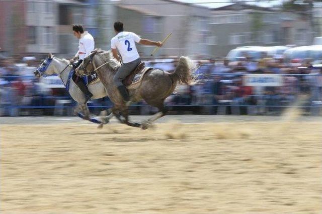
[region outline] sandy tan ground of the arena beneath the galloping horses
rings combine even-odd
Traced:
[[[0,212],[322,213],[320,120],[195,118],[2,124]]]

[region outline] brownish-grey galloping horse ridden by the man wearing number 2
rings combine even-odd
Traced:
[[[111,51],[94,50],[83,63],[76,69],[76,75],[89,75],[95,71],[105,86],[110,100],[114,103],[111,112],[122,122],[130,126],[148,128],[153,121],[163,117],[167,113],[164,104],[165,99],[175,90],[177,83],[191,84],[195,80],[195,66],[188,57],[180,57],[178,65],[173,73],[159,69],[144,68],[137,81],[127,86],[132,102],[144,100],[147,104],[157,107],[158,112],[148,120],[133,123],[128,118],[128,106],[113,84],[113,76],[121,66],[112,55]],[[130,75],[131,76],[131,75]],[[131,81],[130,81],[131,82]],[[121,119],[120,115],[124,117]]]

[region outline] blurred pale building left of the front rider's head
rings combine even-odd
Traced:
[[[83,23],[83,7],[75,0],[28,0],[26,52],[76,53],[78,41],[72,35],[71,25]]]

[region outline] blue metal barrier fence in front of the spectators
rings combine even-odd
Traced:
[[[13,81],[17,76],[2,78]],[[322,113],[321,74],[211,74],[202,75],[196,85],[177,89],[166,100],[172,114],[279,115],[291,107],[300,108],[307,115]],[[10,102],[3,99],[6,89],[2,90],[0,116],[72,115],[76,104],[70,96],[39,95],[31,95],[35,102],[28,104]],[[89,108],[96,113],[112,105],[108,98],[89,102]],[[132,114],[156,112],[144,102],[133,103],[129,110]]]

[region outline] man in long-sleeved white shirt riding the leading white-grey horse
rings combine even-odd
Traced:
[[[73,62],[72,67],[75,70],[79,65],[81,65],[84,58],[90,55],[91,52],[94,50],[95,42],[92,35],[87,31],[84,32],[83,26],[80,24],[74,24],[72,27],[72,32],[73,35],[77,39],[79,39],[78,51],[75,57],[72,60],[70,60],[71,62]],[[77,58],[79,58],[78,61],[74,62],[74,60]],[[83,83],[82,78],[76,76],[75,72],[72,76],[72,80],[76,83],[79,89],[82,90],[87,100],[89,100],[93,96],[93,94],[89,91],[87,86]]]

